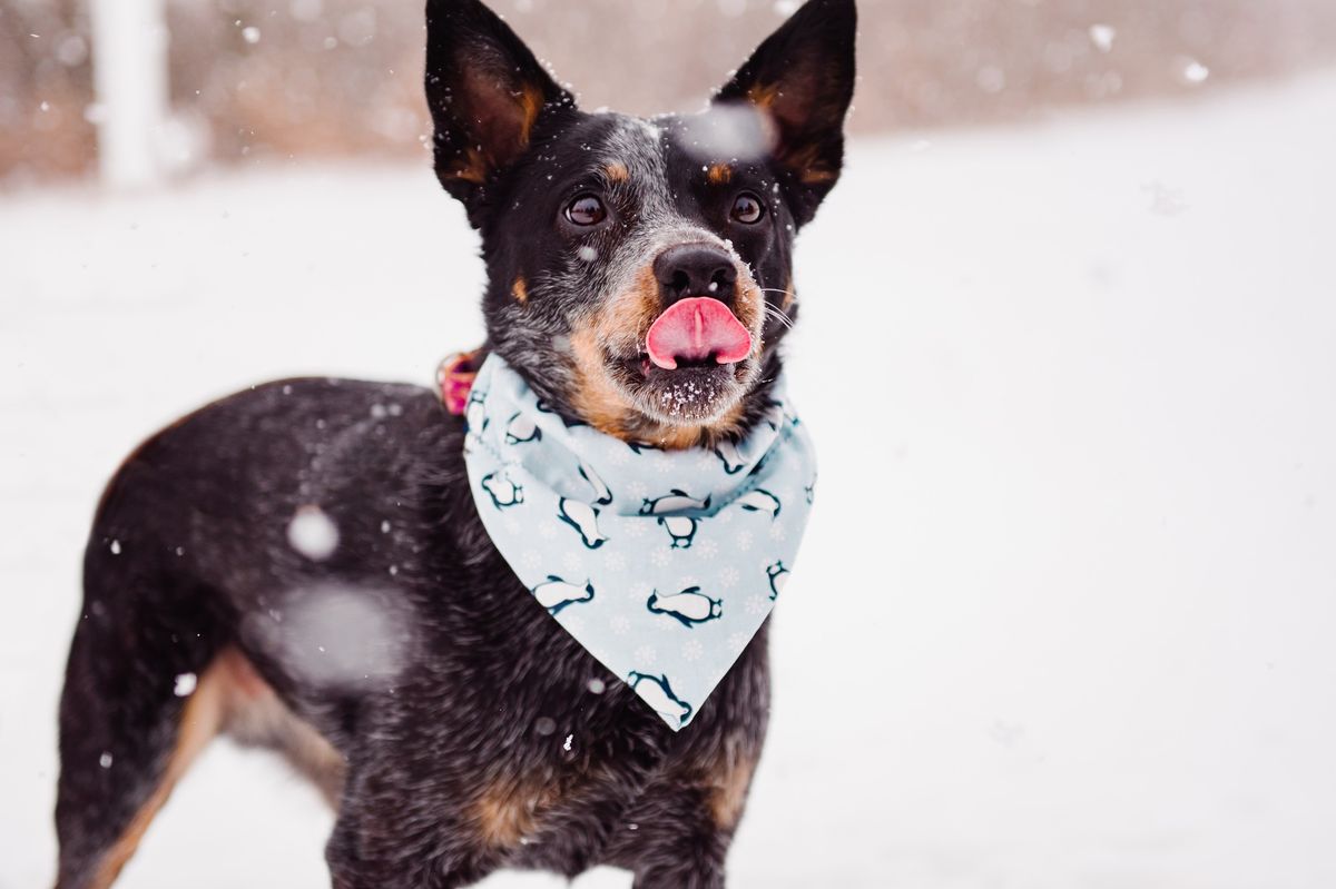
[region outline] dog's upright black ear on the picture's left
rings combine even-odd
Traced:
[[[426,100],[436,175],[472,210],[488,183],[529,147],[540,119],[574,100],[478,0],[428,0]]]

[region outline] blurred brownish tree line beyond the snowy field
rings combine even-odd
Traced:
[[[167,0],[178,166],[413,156],[421,0]],[[689,111],[796,0],[494,0],[587,108]],[[1043,116],[1336,60],[1333,0],[862,0],[855,132]],[[0,0],[0,184],[88,174],[80,0]]]

